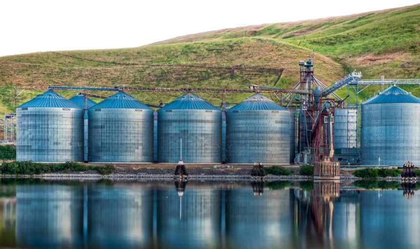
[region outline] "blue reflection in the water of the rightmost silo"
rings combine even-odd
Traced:
[[[420,196],[360,192],[361,248],[420,248]]]

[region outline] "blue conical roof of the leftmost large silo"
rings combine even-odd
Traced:
[[[22,107],[58,107],[81,109],[77,104],[71,102],[70,100],[52,90],[48,90],[45,93],[40,94],[28,102],[18,106],[18,108]]]

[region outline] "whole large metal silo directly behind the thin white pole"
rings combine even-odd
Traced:
[[[202,98],[187,93],[158,110],[158,161],[220,163],[222,112]]]

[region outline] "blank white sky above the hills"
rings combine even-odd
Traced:
[[[1,0],[0,56],[138,47],[245,25],[402,7],[420,0]]]

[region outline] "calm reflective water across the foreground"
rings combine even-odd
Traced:
[[[419,194],[396,182],[0,184],[2,248],[420,248]]]

